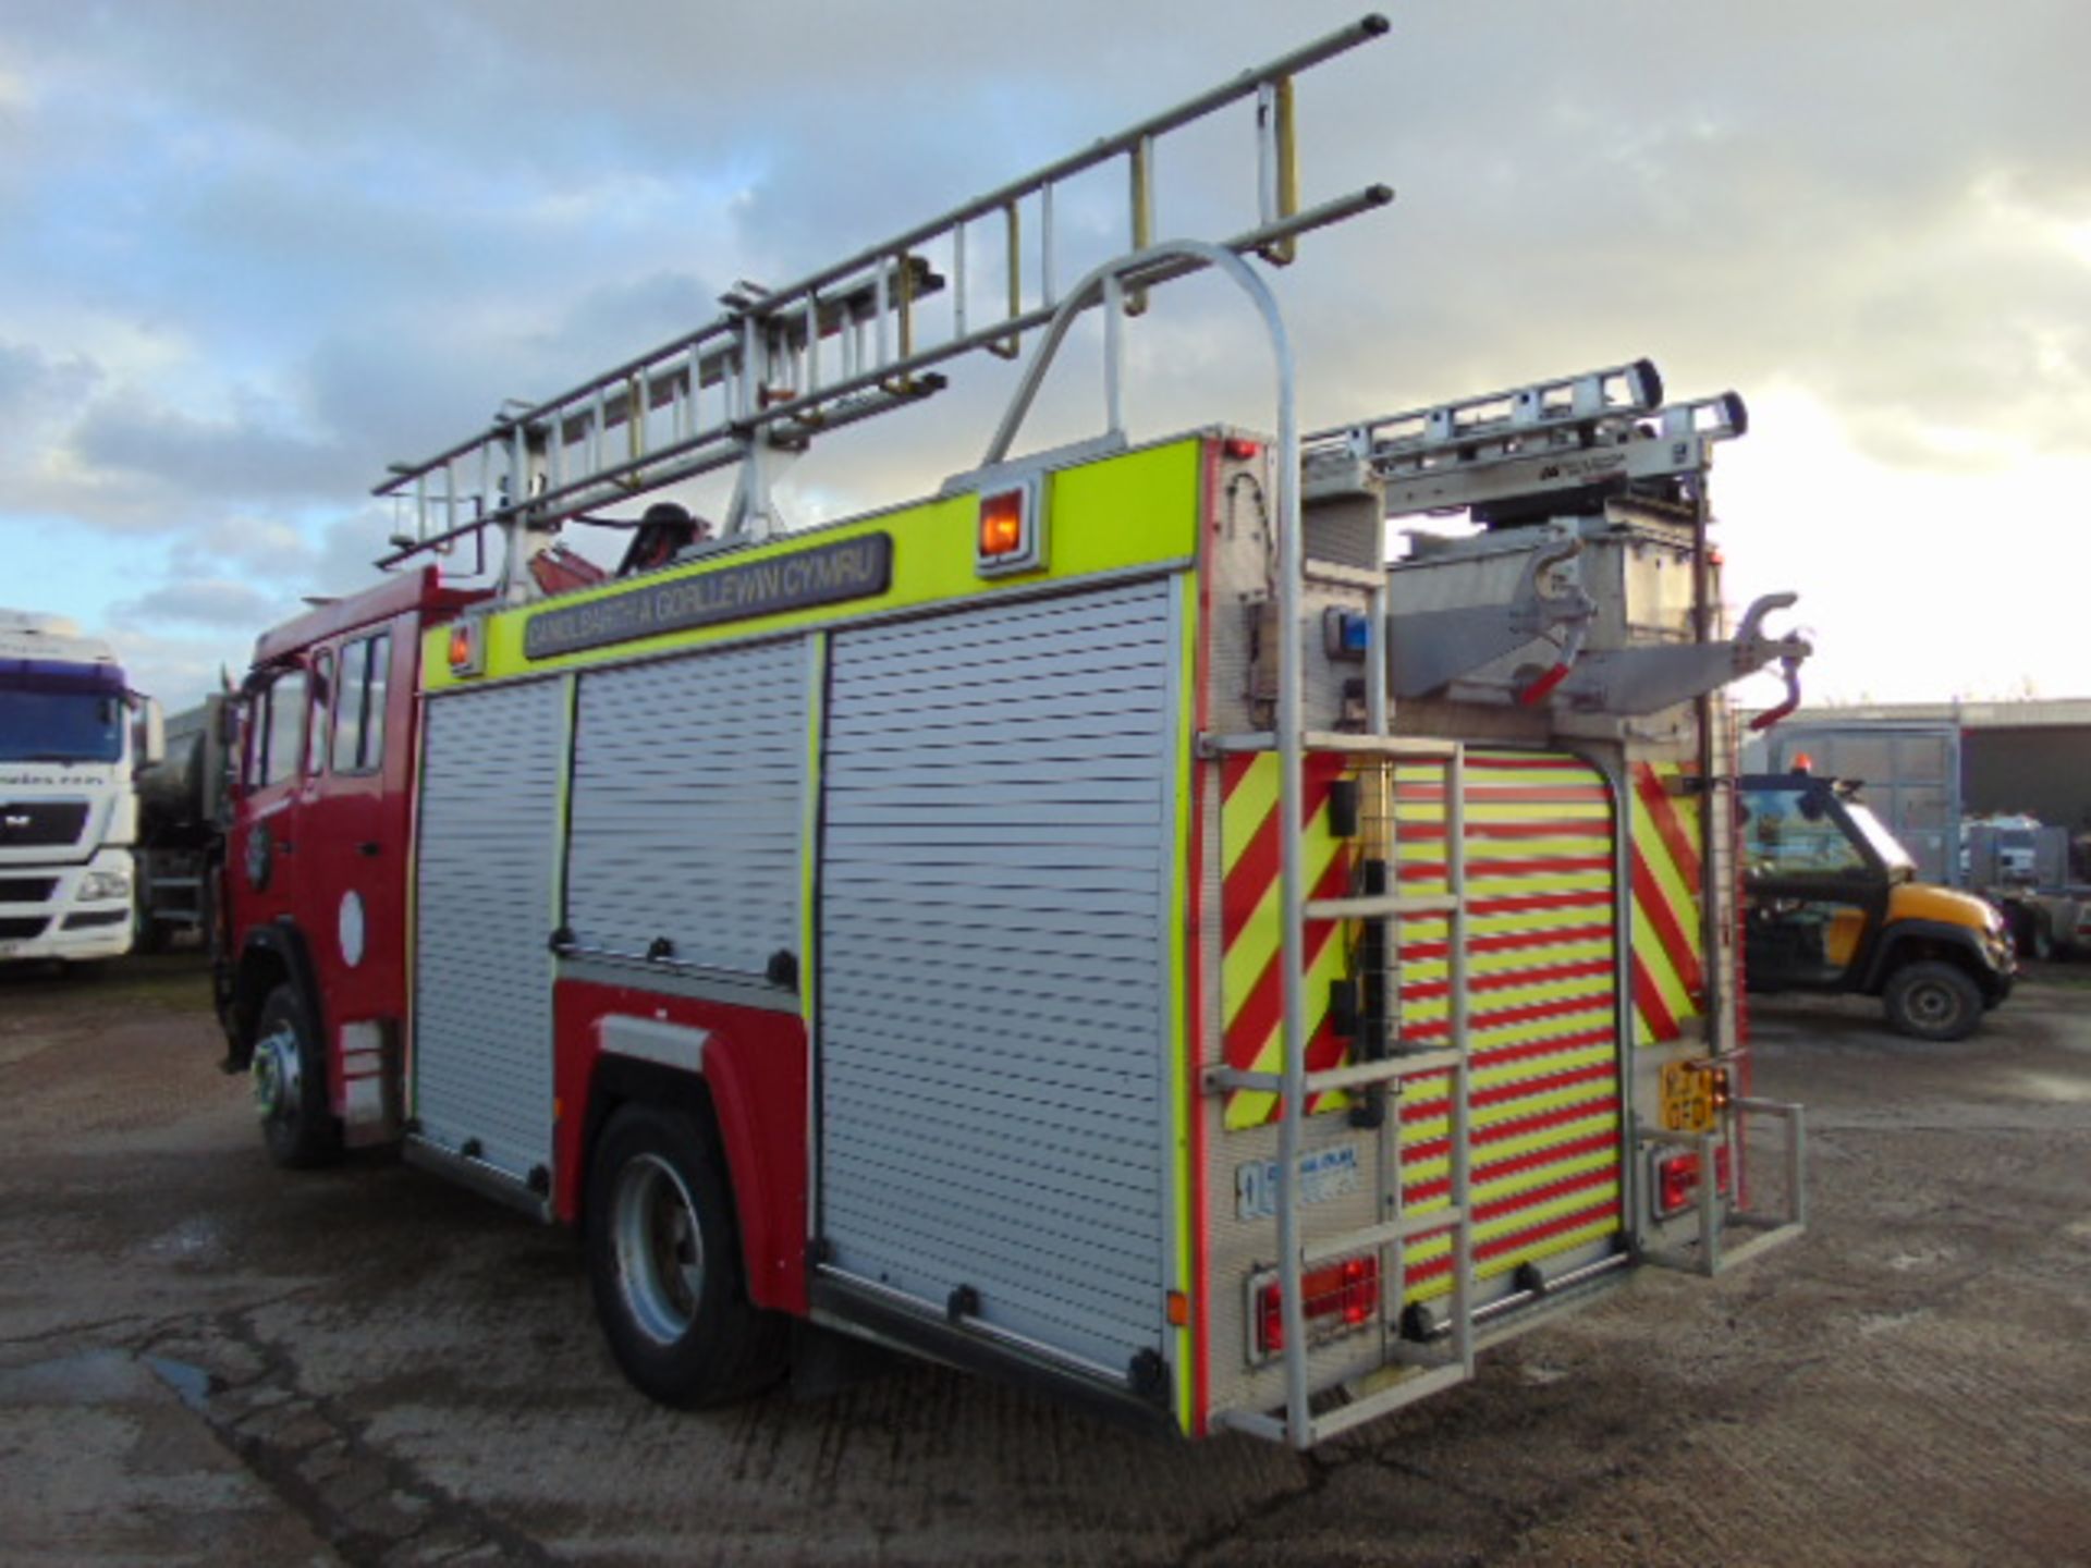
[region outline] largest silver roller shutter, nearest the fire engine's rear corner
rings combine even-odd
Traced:
[[[834,638],[822,1236],[1121,1369],[1163,1336],[1167,583]]]

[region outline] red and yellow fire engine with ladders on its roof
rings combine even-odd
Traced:
[[[280,1162],[399,1144],[579,1227],[665,1403],[843,1336],[1303,1449],[1800,1231],[1721,688],[1807,644],[1790,596],[1723,636],[1742,401],[1633,362],[1301,431],[1257,263],[1386,205],[1301,205],[1294,157],[1299,77],[1384,29],[393,470],[393,575],[240,692],[220,999]],[[1255,215],[1158,240],[1156,146],[1244,102]],[[1110,167],[1125,245],[1060,286],[1054,192]],[[1129,322],[1192,272],[1257,312],[1273,431],[1133,441]],[[1089,312],[1104,429],[1027,452]],[[820,435],[1027,341],[974,468],[782,527]],[[715,537],[560,541],[728,468]]]

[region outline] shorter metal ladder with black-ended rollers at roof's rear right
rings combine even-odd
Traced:
[[[1750,429],[1738,393],[1662,401],[1648,360],[1462,397],[1301,437],[1309,495],[1384,491],[1386,516],[1700,472]]]

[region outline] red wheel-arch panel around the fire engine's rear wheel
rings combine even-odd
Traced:
[[[671,997],[629,985],[560,981],[552,991],[554,1093],[552,1202],[569,1225],[581,1219],[583,1135],[602,1024],[648,1018],[703,1029],[705,1087],[732,1171],[749,1296],[757,1307],[805,1313],[807,1238],[807,1041],[805,1020],[765,1008]]]

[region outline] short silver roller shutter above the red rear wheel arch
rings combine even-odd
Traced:
[[[763,974],[797,953],[805,644],[590,671],[567,924],[583,949]]]

